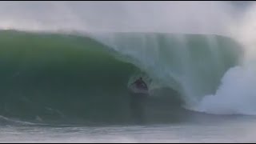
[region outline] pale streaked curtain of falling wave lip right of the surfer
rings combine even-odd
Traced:
[[[216,35],[116,33],[94,38],[146,71],[154,78],[152,87],[177,90],[189,109],[212,94],[222,75],[242,56],[238,43]]]

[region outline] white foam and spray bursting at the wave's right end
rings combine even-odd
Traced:
[[[256,114],[255,5],[240,20],[234,38],[242,43],[244,58],[222,78],[215,94],[206,95],[196,110],[211,114]]]

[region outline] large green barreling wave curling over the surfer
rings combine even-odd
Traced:
[[[162,104],[190,107],[214,93],[241,57],[237,42],[217,35],[2,30],[1,113],[125,121],[127,85],[138,76],[146,78],[150,98],[175,97]]]

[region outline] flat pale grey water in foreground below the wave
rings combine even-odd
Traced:
[[[256,142],[255,118],[210,119],[144,126],[2,126],[0,142]]]

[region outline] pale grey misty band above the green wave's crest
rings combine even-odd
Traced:
[[[225,34],[228,2],[1,2],[0,26],[22,30],[83,30]]]

